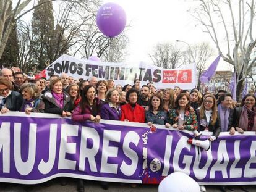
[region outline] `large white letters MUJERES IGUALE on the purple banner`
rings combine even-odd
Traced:
[[[28,146],[28,156],[27,161],[23,161],[22,154],[22,146],[21,146],[21,123],[14,123],[14,164],[20,175],[28,175],[32,172],[33,168],[36,166],[40,173],[48,174],[54,167],[54,162],[56,161],[56,146],[57,146],[57,124],[50,124],[50,133],[49,138],[49,154],[48,161],[41,161],[35,165],[36,159],[36,130],[37,125],[35,123],[30,123],[29,127],[29,146]],[[10,144],[11,144],[11,135],[10,135],[10,123],[2,122],[0,128],[0,163],[2,167],[3,173],[10,173]],[[103,146],[100,149],[100,135],[95,128],[83,127],[81,130],[81,138],[80,140],[80,149],[79,156],[77,160],[67,159],[66,154],[75,154],[77,143],[70,143],[68,138],[70,136],[78,136],[79,134],[79,126],[78,125],[69,125],[62,124],[61,125],[61,140],[59,141],[59,156],[58,156],[58,169],[69,169],[75,170],[77,161],[79,161],[79,170],[85,171],[85,159],[88,159],[88,164],[90,167],[90,172],[100,172],[100,173],[113,173],[117,174],[117,170],[120,169],[121,172],[126,176],[131,176],[135,173],[138,163],[139,156],[142,154],[137,154],[139,151],[134,151],[134,149],[130,148],[130,144],[134,144],[138,146],[140,136],[135,131],[129,131],[124,136],[124,140],[121,143],[121,131],[116,130],[104,130],[103,132]],[[93,146],[91,148],[87,148],[87,140],[93,140]],[[108,163],[108,157],[118,157],[118,147],[109,146],[109,141],[119,142],[120,147],[122,148],[124,155],[130,159],[130,163],[127,164],[124,160],[119,161],[120,164],[110,164]],[[186,144],[187,137],[182,136],[179,141],[173,143],[173,136],[166,135],[166,146],[164,157],[164,167],[162,175],[166,176],[168,173],[173,171],[182,171],[190,174],[190,171],[194,173],[195,177],[198,179],[203,179],[207,177],[207,173],[210,172],[210,178],[215,177],[216,172],[221,172],[223,178],[252,178],[255,177],[255,168],[252,168],[251,165],[256,163],[255,151],[256,151],[256,141],[252,141],[248,146],[250,148],[250,159],[246,162],[244,167],[237,168],[237,162],[240,157],[240,141],[234,141],[234,151],[233,154],[235,156],[235,160],[230,162],[228,150],[226,147],[226,141],[221,140],[218,146],[218,151],[216,151],[216,159],[217,161],[213,164],[213,151],[211,149],[207,151],[207,162],[202,167],[198,161],[197,150],[191,150],[190,154],[182,155],[182,149],[186,148],[190,150],[192,146]],[[38,143],[37,143],[38,144]],[[173,154],[171,154],[171,149],[174,148]],[[140,151],[141,152],[141,151]],[[37,151],[38,153],[38,151]],[[100,169],[97,167],[97,162],[95,160],[95,156],[101,153],[101,162]],[[103,155],[104,154],[104,155]],[[200,155],[199,155],[200,156]],[[185,166],[179,167],[179,161],[182,159],[182,164]],[[193,160],[194,159],[194,160]],[[216,160],[215,159],[215,160]],[[2,161],[2,162],[1,162]],[[172,166],[170,166],[172,165]],[[24,169],[25,167],[25,169]],[[171,168],[170,168],[171,167]],[[210,169],[210,170],[209,170]],[[229,170],[229,173],[228,173]]]

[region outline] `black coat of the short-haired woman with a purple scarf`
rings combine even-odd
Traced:
[[[71,112],[74,108],[74,104],[72,100],[70,100],[69,94],[63,91],[63,95],[64,107],[60,108],[59,105],[56,103],[51,91],[46,91],[46,93],[42,96],[43,102],[45,103],[45,113],[62,115],[63,111]]]

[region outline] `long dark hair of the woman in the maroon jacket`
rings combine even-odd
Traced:
[[[81,94],[81,101],[79,103],[80,109],[82,109],[82,112],[85,112],[85,108],[86,106],[90,106],[89,101],[87,99],[87,92],[90,88],[94,88],[95,87],[93,85],[85,85],[85,87],[82,90],[82,94]],[[96,92],[95,92],[96,93]],[[93,106],[92,106],[93,111],[96,110],[97,112],[100,110],[99,105],[96,102],[96,99],[93,99]]]

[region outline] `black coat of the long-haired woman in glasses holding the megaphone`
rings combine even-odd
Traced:
[[[197,109],[196,114],[197,114],[197,122],[198,122],[198,131],[204,131],[207,126],[203,126],[200,123],[201,119],[200,119],[199,109]],[[205,122],[207,122],[207,118],[206,118],[205,115],[203,115],[203,119],[205,119]],[[221,129],[219,116],[217,117],[216,122],[214,123],[214,125],[211,125],[211,122],[212,121],[211,121],[211,118],[210,118],[210,122],[209,122],[209,125],[208,125],[208,130],[210,132],[213,132],[213,136],[216,136],[216,138],[218,138],[218,136],[220,134],[220,129]]]

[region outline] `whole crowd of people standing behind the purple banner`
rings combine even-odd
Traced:
[[[45,112],[71,117],[74,122],[99,123],[106,119],[160,124],[195,135],[200,131],[213,132],[210,141],[215,141],[220,132],[234,135],[256,131],[255,101],[252,93],[236,103],[224,90],[216,94],[200,93],[196,88],[181,90],[178,86],[158,90],[153,82],[141,86],[139,79],[134,80],[134,85],[122,86],[96,77],[75,80],[66,73],[34,80],[9,68],[0,71],[1,114]],[[108,189],[108,183],[101,185]],[[77,190],[83,191],[82,180]]]

